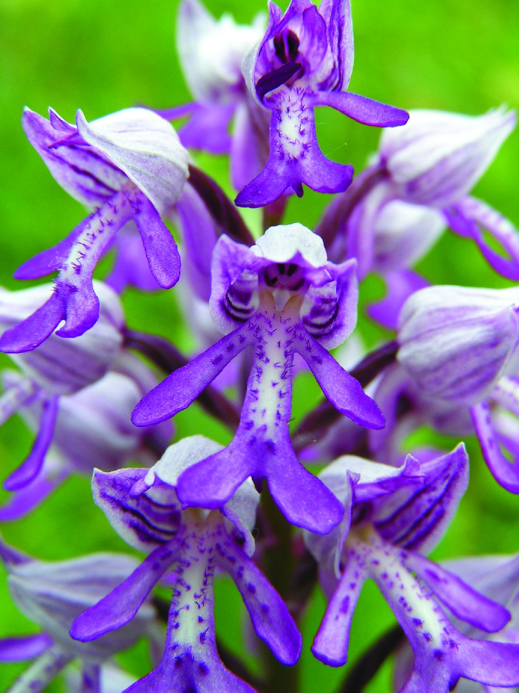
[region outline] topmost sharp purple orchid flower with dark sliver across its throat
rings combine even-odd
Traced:
[[[292,0],[282,11],[268,6],[268,26],[244,59],[254,98],[272,112],[270,158],[236,198],[242,207],[262,207],[287,188],[302,195],[302,184],[338,193],[352,182],[352,166],[330,161],[319,149],[313,109],[331,106],[365,125],[392,128],[408,121],[399,108],[346,91],[353,69],[349,0]]]

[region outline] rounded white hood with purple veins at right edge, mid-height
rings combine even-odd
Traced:
[[[511,365],[519,290],[434,286],[399,316],[397,358],[424,394],[473,405]]]

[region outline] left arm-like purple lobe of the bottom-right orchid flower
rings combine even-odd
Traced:
[[[364,580],[365,575],[350,552],[311,647],[313,655],[330,667],[340,667],[347,662],[349,631]]]

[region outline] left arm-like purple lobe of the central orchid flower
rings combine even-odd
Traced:
[[[188,407],[226,365],[251,344],[247,331],[246,325],[237,328],[154,387],[131,415],[135,426],[152,426]]]

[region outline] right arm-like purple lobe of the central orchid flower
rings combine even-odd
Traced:
[[[294,349],[307,362],[322,392],[341,414],[359,426],[383,428],[384,417],[376,403],[313,337],[308,335],[305,342],[294,341]]]

